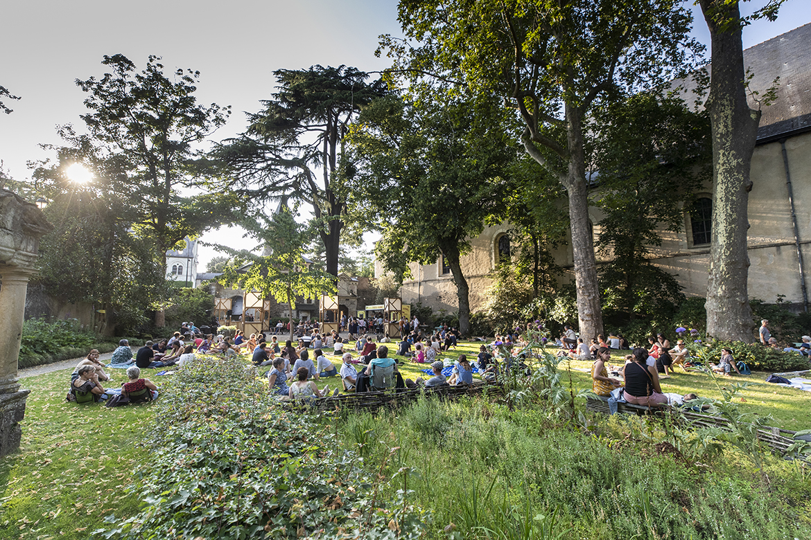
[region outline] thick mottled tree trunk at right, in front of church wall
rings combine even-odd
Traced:
[[[713,150],[713,210],[710,276],[707,283],[707,334],[723,340],[752,341],[749,306],[749,168],[760,111],[749,108],[744,89],[744,53],[738,3],[721,6],[701,0],[712,36],[710,112]],[[712,14],[714,13],[715,16]],[[719,28],[721,20],[731,20]]]

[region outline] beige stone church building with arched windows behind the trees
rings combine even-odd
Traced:
[[[811,24],[806,24],[744,51],[744,62],[753,79],[749,87],[762,95],[779,77],[777,100],[762,109],[749,193],[749,295],[773,303],[778,296],[802,310],[809,303],[811,263]],[[754,102],[750,104],[754,107]],[[598,188],[599,189],[599,188]],[[696,193],[697,206],[684,210],[679,233],[664,232],[653,261],[676,276],[687,296],[706,296],[710,266],[710,232],[713,193],[705,185]],[[676,204],[681,204],[677,202]],[[594,235],[599,234],[601,211],[589,211]],[[510,251],[508,223],[485,227],[472,239],[471,253],[461,266],[470,284],[470,308],[485,307],[487,287],[499,258]],[[556,262],[573,279],[571,247],[563,246]],[[598,264],[599,264],[598,259]],[[410,266],[412,278],[401,288],[405,304],[421,302],[433,309],[457,308],[456,286],[450,270],[440,260]],[[375,274],[382,273],[380,263]]]

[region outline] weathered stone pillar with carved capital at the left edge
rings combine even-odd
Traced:
[[[19,388],[17,360],[25,293],[36,273],[39,239],[51,228],[36,206],[0,189],[0,456],[14,452],[22,436],[29,391]]]

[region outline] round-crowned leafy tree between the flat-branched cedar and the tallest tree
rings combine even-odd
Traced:
[[[427,96],[423,96],[425,98]],[[397,283],[408,264],[444,263],[457,287],[459,330],[470,333],[470,287],[461,256],[504,196],[516,150],[486,120],[483,101],[375,101],[350,140],[358,156],[358,206],[383,231],[375,253]],[[441,266],[440,266],[441,267]]]

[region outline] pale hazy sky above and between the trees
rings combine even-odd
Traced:
[[[701,11],[692,9],[694,36],[709,54],[709,32]],[[0,15],[0,85],[22,97],[3,100],[14,113],[0,114],[0,160],[16,180],[30,177],[27,161],[53,157],[38,145],[59,143],[55,126],[80,127],[84,92],[75,79],[100,78],[105,54],[122,53],[139,70],[149,54],[163,57],[167,72],[200,70],[198,101],[232,106],[230,120],[213,135],[221,140],[244,130],[243,112],[259,110],[271,96],[273,70],[315,64],[382,70],[388,62],[375,57],[378,36],[401,33],[396,0],[27,0],[5,2]],[[787,0],[775,23],[744,28],[744,48],[809,22],[811,2]],[[238,249],[254,244],[230,227],[201,240]],[[217,254],[201,247],[199,269]]]

